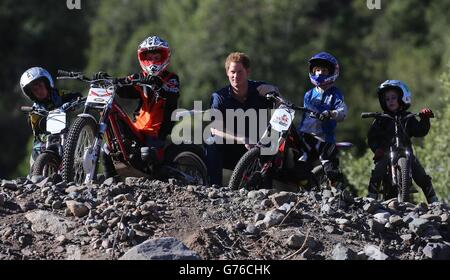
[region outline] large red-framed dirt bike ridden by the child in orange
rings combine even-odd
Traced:
[[[116,168],[125,167],[154,178],[176,178],[185,184],[207,185],[203,151],[196,145],[162,147],[162,162],[144,162],[141,147],[145,147],[142,133],[135,127],[115,100],[116,90],[122,86],[142,86],[146,94],[161,98],[152,85],[139,79],[106,78],[91,80],[82,73],[59,71],[58,79],[75,79],[90,84],[84,112],[70,127],[64,147],[62,177],[65,181],[92,183],[96,179],[103,139]],[[147,90],[148,89],[148,90]]]

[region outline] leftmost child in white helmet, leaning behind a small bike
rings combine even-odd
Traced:
[[[82,96],[78,92],[63,92],[55,88],[52,76],[42,67],[32,67],[25,71],[20,78],[20,88],[25,97],[34,102],[33,107],[47,111],[59,108]],[[30,168],[44,147],[41,135],[45,133],[46,123],[43,120],[42,116],[29,114],[29,123],[34,135]]]

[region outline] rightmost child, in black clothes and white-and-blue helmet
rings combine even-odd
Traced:
[[[387,80],[378,87],[377,94],[384,113],[401,116],[410,114],[406,110],[411,105],[411,92],[403,82]],[[433,112],[430,109],[422,109],[419,113],[420,121],[416,118],[408,118],[404,121],[403,126],[406,133],[411,137],[424,137],[430,130],[430,118],[433,116]],[[373,160],[375,163],[369,181],[369,197],[377,198],[377,187],[381,183],[389,164],[387,153],[393,137],[394,123],[389,119],[376,119],[369,128],[367,140],[370,149],[374,152]],[[407,144],[411,145],[411,143]],[[414,155],[412,155],[411,164],[413,179],[422,188],[428,203],[438,201],[431,177],[428,176]]]

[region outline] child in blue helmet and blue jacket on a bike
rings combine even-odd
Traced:
[[[320,52],[309,60],[309,77],[315,86],[304,96],[304,107],[317,112],[314,118],[308,113],[298,126],[304,151],[300,161],[308,161],[315,153],[319,156],[327,178],[332,185],[342,182],[336,151],[335,129],[337,122],[347,116],[347,105],[341,91],[334,85],[339,76],[337,59],[327,52]]]

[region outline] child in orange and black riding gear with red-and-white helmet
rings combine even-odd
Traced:
[[[117,95],[122,98],[139,99],[134,125],[144,135],[147,144],[147,147],[141,148],[142,160],[161,161],[162,147],[174,125],[171,115],[178,106],[180,80],[175,73],[167,70],[170,63],[170,48],[167,41],[158,36],[150,36],[139,45],[137,55],[142,72],[128,78],[141,78],[142,83],[153,86],[154,92],[147,87],[124,86],[117,90]],[[99,72],[93,79],[107,76],[108,74]],[[102,158],[105,177],[117,175],[106,145],[102,151]]]

